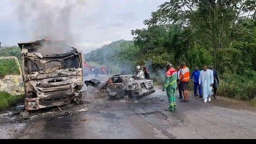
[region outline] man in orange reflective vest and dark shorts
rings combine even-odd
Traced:
[[[182,102],[188,102],[188,82],[190,81],[190,70],[185,63],[181,63],[181,73],[180,80],[178,82],[181,85],[181,90],[183,91],[184,100]]]

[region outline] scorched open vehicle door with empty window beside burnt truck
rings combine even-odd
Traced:
[[[22,71],[16,57],[0,57],[0,91],[13,96],[25,94]]]

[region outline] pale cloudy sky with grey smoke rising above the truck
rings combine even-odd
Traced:
[[[130,31],[146,28],[166,0],[1,0],[2,46],[43,38],[68,40],[83,53],[120,39],[132,40]]]

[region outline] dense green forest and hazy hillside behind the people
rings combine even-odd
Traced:
[[[171,0],[144,21],[147,28],[132,30],[133,43],[117,41],[85,58],[132,66],[150,62],[154,72],[167,63],[185,62],[191,71],[214,65],[219,95],[256,100],[255,9],[255,0]]]

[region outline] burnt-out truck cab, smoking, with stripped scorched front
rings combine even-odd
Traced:
[[[25,109],[60,106],[82,97],[82,56],[64,41],[18,43],[25,84]],[[68,51],[61,53],[61,50]],[[60,52],[56,54],[56,52]],[[54,53],[53,53],[54,52]]]

